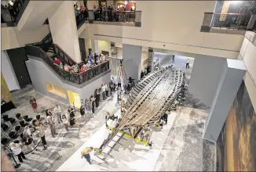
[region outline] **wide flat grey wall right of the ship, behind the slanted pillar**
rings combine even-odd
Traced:
[[[196,56],[188,91],[210,107],[220,82],[226,59],[214,56]]]

